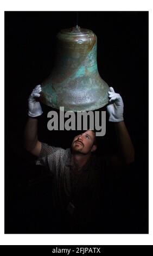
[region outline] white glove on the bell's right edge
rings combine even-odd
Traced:
[[[110,122],[121,122],[123,121],[123,100],[120,94],[115,93],[114,89],[110,87],[109,93],[109,102],[107,105],[107,111],[109,112],[109,121]]]

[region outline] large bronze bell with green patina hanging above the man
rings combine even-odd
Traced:
[[[50,76],[41,83],[40,100],[65,111],[90,111],[105,106],[109,86],[97,68],[97,36],[80,27],[62,29]]]

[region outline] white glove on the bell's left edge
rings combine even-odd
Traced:
[[[40,102],[36,101],[36,98],[40,97],[40,92],[41,92],[41,85],[39,84],[39,86],[36,86],[33,89],[33,92],[29,96],[29,99],[28,99],[29,117],[38,117],[43,113]]]

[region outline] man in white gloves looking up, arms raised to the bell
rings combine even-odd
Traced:
[[[36,157],[36,164],[45,166],[53,176],[52,196],[56,209],[57,223],[66,223],[84,231],[95,223],[100,215],[101,205],[106,196],[107,182],[115,167],[129,164],[134,160],[133,145],[123,119],[123,100],[110,87],[107,106],[109,121],[114,123],[118,139],[119,153],[97,158],[94,131],[87,130],[73,139],[71,149],[51,147],[37,137],[37,117],[42,114],[39,101],[41,86],[36,86],[28,99],[29,119],[25,127],[25,147]],[[102,207],[103,208],[103,207]],[[89,229],[88,229],[89,230]]]

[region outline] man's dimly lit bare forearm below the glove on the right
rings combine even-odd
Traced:
[[[129,132],[126,129],[124,121],[114,123],[116,136],[120,154],[122,155],[125,163],[131,163],[135,160],[135,149],[131,142]]]

